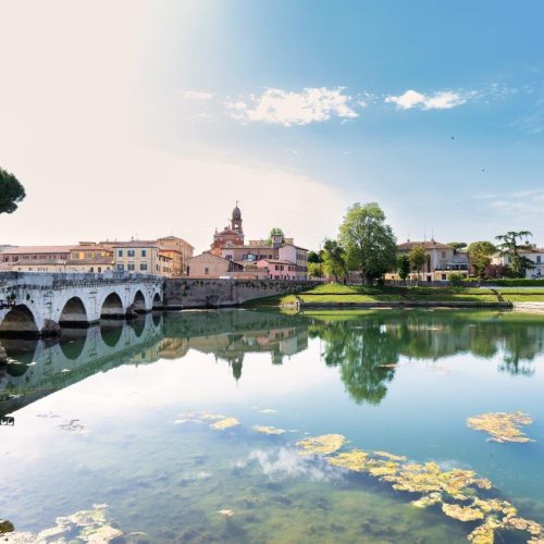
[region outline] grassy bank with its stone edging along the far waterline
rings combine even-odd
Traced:
[[[403,287],[322,284],[296,295],[274,296],[247,302],[263,308],[388,308],[448,307],[514,309],[528,304],[544,311],[544,287]]]

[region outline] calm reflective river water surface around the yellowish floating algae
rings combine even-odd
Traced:
[[[119,543],[467,542],[478,523],[299,455],[297,441],[326,433],[345,450],[472,469],[544,523],[544,319],[201,311],[2,343],[0,415],[14,424],[0,426],[0,519],[21,542],[92,505],[108,505],[119,532],[103,540]],[[190,410],[239,424],[213,430]],[[517,410],[535,442],[490,443],[466,424]]]

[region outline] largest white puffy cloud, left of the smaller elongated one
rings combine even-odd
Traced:
[[[342,87],[309,87],[302,92],[267,89],[261,96],[251,95],[245,101],[227,102],[233,119],[243,122],[262,122],[284,126],[308,125],[329,121],[332,116],[355,119],[351,97]]]

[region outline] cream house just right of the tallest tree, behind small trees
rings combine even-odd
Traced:
[[[416,246],[422,246],[425,250],[426,262],[420,273],[411,270],[408,280],[423,280],[425,282],[447,281],[452,273],[469,276],[469,257],[467,251],[456,251],[452,246],[442,244],[435,239],[429,242],[405,242],[397,246],[399,254],[408,255]],[[398,272],[385,274],[385,280],[400,280]]]

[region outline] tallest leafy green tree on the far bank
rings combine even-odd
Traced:
[[[395,269],[396,238],[376,202],[355,203],[347,210],[338,243],[346,250],[349,270],[360,270],[367,282]]]

